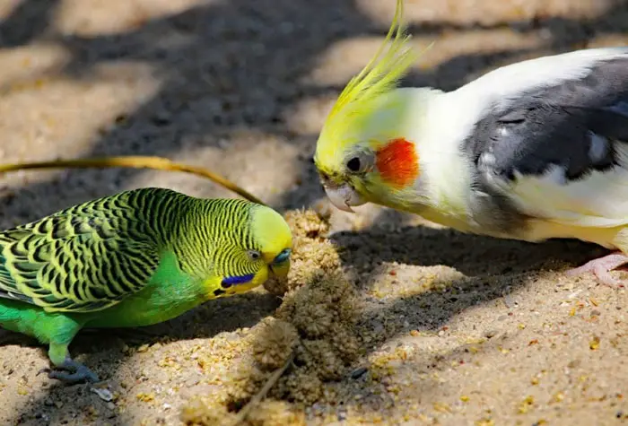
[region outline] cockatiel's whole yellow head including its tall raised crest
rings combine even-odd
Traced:
[[[411,103],[397,89],[416,59],[402,16],[403,0],[397,0],[386,40],[342,91],[318,136],[314,162],[327,196],[341,210],[369,201],[386,204],[390,194],[408,189],[418,177],[414,143],[406,137]]]

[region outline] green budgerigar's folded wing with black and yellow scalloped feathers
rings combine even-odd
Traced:
[[[0,297],[92,312],[141,290],[160,257],[135,213],[114,196],[0,232]]]

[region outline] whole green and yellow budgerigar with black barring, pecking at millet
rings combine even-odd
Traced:
[[[50,378],[98,381],[68,345],[83,327],[150,326],[290,269],[275,210],[141,188],[0,231],[0,326],[48,343]]]

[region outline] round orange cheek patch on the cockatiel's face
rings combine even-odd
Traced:
[[[414,143],[406,139],[393,139],[376,152],[375,165],[379,175],[388,184],[406,187],[419,175],[419,159]]]

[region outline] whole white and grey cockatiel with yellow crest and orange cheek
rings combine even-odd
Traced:
[[[568,274],[628,263],[628,48],[506,65],[456,91],[398,88],[416,55],[400,24],[342,91],[315,164],[337,208],[367,202],[498,238],[615,250]],[[392,39],[381,58],[382,49]]]

